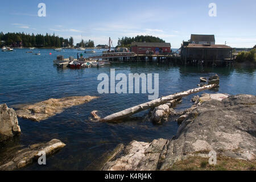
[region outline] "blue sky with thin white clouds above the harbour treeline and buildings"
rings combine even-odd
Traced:
[[[45,3],[46,16],[38,16]],[[216,16],[209,16],[210,3]],[[214,34],[216,44],[251,48],[256,44],[255,0],[26,0],[1,1],[0,31],[73,36],[75,43],[113,46],[118,38],[152,35],[179,48],[191,34]]]

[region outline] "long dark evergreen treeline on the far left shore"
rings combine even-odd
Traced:
[[[73,47],[74,39],[71,37],[69,39],[60,38],[55,34],[25,34],[22,33],[10,33],[3,34],[0,33],[1,46],[11,46],[11,47]]]

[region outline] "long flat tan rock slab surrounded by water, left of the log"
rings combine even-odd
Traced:
[[[50,98],[49,100],[20,107],[16,110],[18,117],[32,121],[45,120],[53,115],[62,113],[69,107],[85,104],[93,100],[94,96],[72,96],[64,98]]]

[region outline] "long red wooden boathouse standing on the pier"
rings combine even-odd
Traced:
[[[152,51],[154,54],[170,53],[171,43],[156,43],[156,42],[132,42],[131,52],[139,55],[144,55]]]

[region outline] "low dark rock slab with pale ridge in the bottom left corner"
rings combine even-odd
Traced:
[[[36,162],[42,154],[52,155],[65,146],[65,143],[58,139],[52,139],[47,143],[32,144],[30,147],[17,151],[13,158],[6,160],[0,166],[0,171],[11,171],[26,167],[28,164]]]

